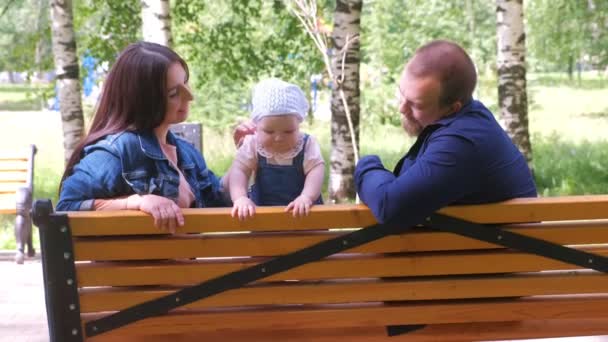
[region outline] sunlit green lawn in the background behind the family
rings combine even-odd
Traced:
[[[584,74],[580,84],[576,78],[570,81],[562,74],[533,74],[529,78],[530,131],[539,192],[546,196],[608,193],[608,82],[589,73]],[[495,86],[496,80],[482,79],[477,93],[494,111]],[[0,86],[0,103],[10,108],[10,103],[19,103],[27,93],[24,87]],[[36,144],[34,198],[51,198],[56,203],[64,165],[59,114],[1,110],[0,106],[2,147]],[[386,110],[391,111],[398,118],[396,109]],[[378,154],[392,169],[413,140],[400,127],[369,124],[365,115],[362,120],[360,154]],[[223,175],[234,156],[230,128],[214,129],[204,122],[203,126],[205,159],[216,174]],[[330,123],[317,120],[303,124],[302,130],[320,141],[328,161]],[[13,220],[11,216],[0,216],[0,248],[14,247]]]

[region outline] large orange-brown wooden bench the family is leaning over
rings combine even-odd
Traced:
[[[185,226],[170,236],[140,212],[52,213],[37,201],[51,341],[608,334],[608,276],[585,266],[608,270],[608,196],[448,207],[429,218],[431,228],[382,238],[393,228],[375,225],[362,205],[315,206],[300,219],[258,208],[244,222],[229,211],[186,209]],[[447,232],[450,217],[485,224],[484,238],[496,243]],[[361,244],[370,233],[376,240]],[[541,252],[557,258],[572,251],[580,265],[500,245],[517,234],[550,242]],[[216,294],[193,299],[203,293]]]

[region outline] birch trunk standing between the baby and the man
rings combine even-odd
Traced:
[[[359,61],[362,0],[337,0],[332,32],[332,69],[337,80],[333,82],[331,93],[331,156],[329,173],[329,198],[334,203],[355,198],[353,173],[355,170],[355,150],[359,148]],[[348,49],[342,51],[348,39]],[[344,66],[343,54],[346,53]],[[355,133],[353,146],[340,90],[344,92]]]

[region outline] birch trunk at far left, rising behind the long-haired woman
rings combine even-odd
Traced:
[[[51,22],[64,157],[67,162],[84,132],[71,0],[51,1]]]

